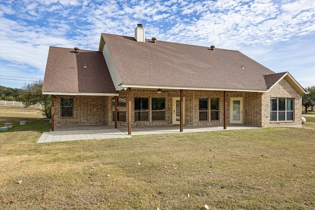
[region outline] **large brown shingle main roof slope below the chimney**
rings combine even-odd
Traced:
[[[102,33],[124,85],[268,90],[275,72],[239,51]],[[243,68],[242,68],[243,66]]]

